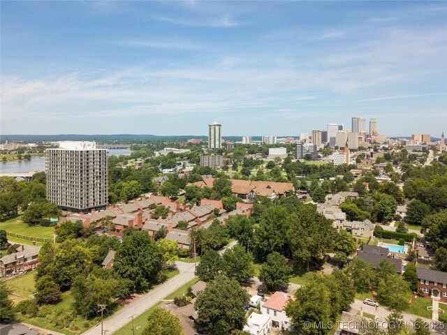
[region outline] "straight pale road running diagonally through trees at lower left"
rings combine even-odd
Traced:
[[[147,309],[154,306],[161,299],[167,295],[170,295],[170,293],[182,287],[195,277],[193,263],[176,262],[175,264],[177,265],[177,269],[180,271],[177,276],[173,276],[173,278],[170,278],[165,283],[157,286],[153,290],[150,290],[138,300],[131,302],[131,304],[117,311],[117,313],[104,319],[104,333],[112,334],[113,332],[116,332],[119,328],[131,321],[132,315],[135,318],[136,316],[147,311]],[[87,332],[83,333],[83,335],[101,335],[101,323],[90,328]]]

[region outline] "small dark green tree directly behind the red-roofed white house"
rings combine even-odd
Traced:
[[[280,253],[273,252],[267,256],[267,262],[261,266],[259,280],[268,290],[288,287],[288,276],[291,268],[287,266],[286,258]]]

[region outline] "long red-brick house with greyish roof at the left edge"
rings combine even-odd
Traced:
[[[0,258],[1,276],[18,274],[20,271],[29,271],[36,268],[40,264],[37,256],[41,248],[41,246],[22,244],[17,248],[16,253]]]

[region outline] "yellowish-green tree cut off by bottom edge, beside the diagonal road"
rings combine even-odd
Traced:
[[[182,325],[177,315],[158,307],[147,317],[142,335],[183,335]]]

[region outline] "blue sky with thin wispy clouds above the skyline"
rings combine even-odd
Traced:
[[[2,134],[447,132],[441,1],[1,1]]]

